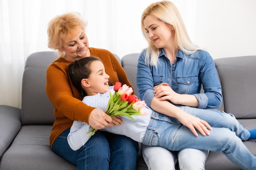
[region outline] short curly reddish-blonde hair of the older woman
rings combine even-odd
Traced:
[[[63,55],[63,37],[72,37],[78,28],[85,29],[86,22],[83,21],[81,14],[78,12],[65,13],[57,15],[48,24],[48,47],[58,50]]]

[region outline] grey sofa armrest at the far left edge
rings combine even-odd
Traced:
[[[21,128],[21,110],[0,105],[0,159]]]

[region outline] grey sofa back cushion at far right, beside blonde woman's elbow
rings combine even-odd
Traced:
[[[237,119],[256,118],[256,56],[220,58],[214,62],[225,112]]]

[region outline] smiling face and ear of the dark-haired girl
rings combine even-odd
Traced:
[[[90,64],[91,73],[86,80],[87,95],[97,95],[97,93],[106,93],[109,91],[108,79],[109,75],[105,72],[105,67],[101,61],[94,61]]]

